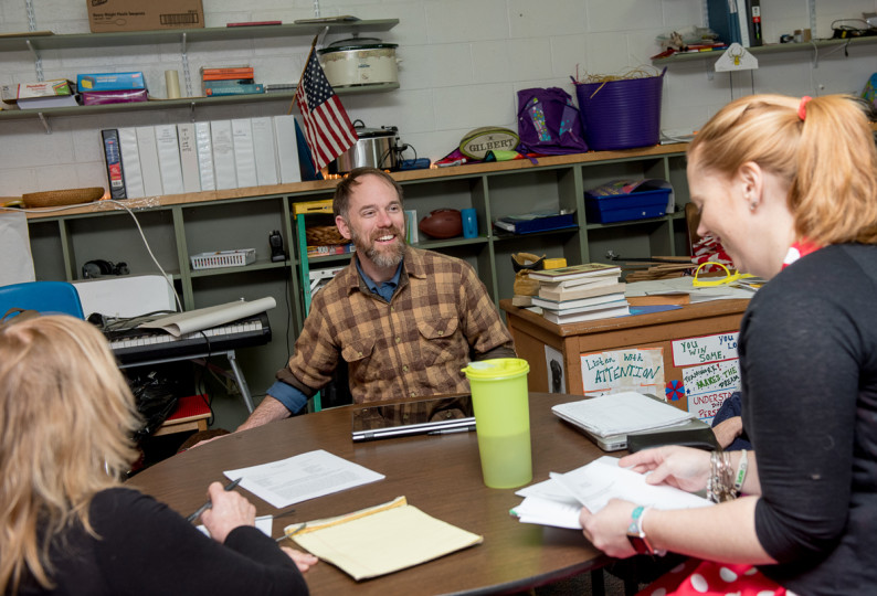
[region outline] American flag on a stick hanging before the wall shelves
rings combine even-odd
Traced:
[[[317,170],[325,168],[359,140],[313,50],[295,92],[295,102],[305,119],[305,139]]]

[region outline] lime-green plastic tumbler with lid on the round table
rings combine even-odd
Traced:
[[[469,362],[469,380],[484,483],[517,488],[532,480],[527,373],[519,358]]]

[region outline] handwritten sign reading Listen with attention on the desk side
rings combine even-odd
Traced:
[[[664,350],[647,348],[581,354],[585,395],[636,391],[664,396]]]

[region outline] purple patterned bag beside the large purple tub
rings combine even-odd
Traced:
[[[588,151],[581,114],[560,87],[518,92],[520,152],[562,156]]]

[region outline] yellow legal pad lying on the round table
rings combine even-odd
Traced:
[[[287,525],[284,533],[357,581],[413,567],[484,540],[427,515],[404,497],[304,526]]]

